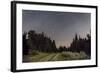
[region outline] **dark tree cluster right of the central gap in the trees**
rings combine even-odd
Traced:
[[[91,36],[90,34],[87,34],[86,38],[81,38],[78,35],[75,35],[75,38],[73,39],[71,45],[70,45],[70,51],[73,52],[80,52],[84,51],[87,55],[91,56]]]

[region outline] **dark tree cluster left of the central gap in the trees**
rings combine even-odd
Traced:
[[[36,33],[31,30],[27,34],[23,34],[23,52],[24,54],[28,54],[32,50],[38,50],[41,52],[56,52],[57,48],[55,40],[51,40],[46,37],[43,32]]]

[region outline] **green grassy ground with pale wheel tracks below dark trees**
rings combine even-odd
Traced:
[[[64,61],[64,60],[88,59],[84,52],[62,52],[62,53],[41,53],[36,55],[25,55],[23,62],[44,62],[44,61]]]

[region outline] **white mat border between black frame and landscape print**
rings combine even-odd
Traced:
[[[38,63],[22,63],[22,9],[24,10],[42,10],[42,11],[62,11],[62,12],[82,12],[91,13],[91,60],[77,60],[77,61],[57,61],[57,62],[38,62]],[[52,68],[52,67],[71,67],[71,66],[85,66],[95,65],[96,59],[96,21],[94,8],[82,7],[63,7],[63,6],[45,6],[45,5],[28,5],[17,4],[17,47],[16,47],[16,62],[17,70],[22,69],[38,69],[38,68]]]

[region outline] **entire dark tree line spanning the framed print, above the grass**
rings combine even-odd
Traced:
[[[70,44],[70,47],[60,46],[56,47],[55,40],[51,40],[44,32],[36,33],[34,30],[23,33],[23,54],[29,54],[29,52],[36,50],[40,52],[63,52],[72,51],[80,52],[84,51],[86,54],[91,54],[91,36],[87,34],[86,38],[75,37]]]

